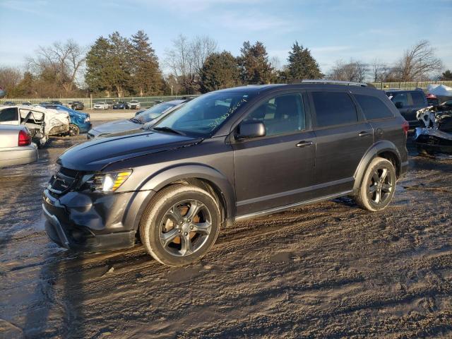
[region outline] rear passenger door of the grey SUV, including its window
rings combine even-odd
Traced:
[[[309,97],[315,112],[316,196],[349,191],[359,162],[374,143],[372,126],[348,92],[312,90]]]

